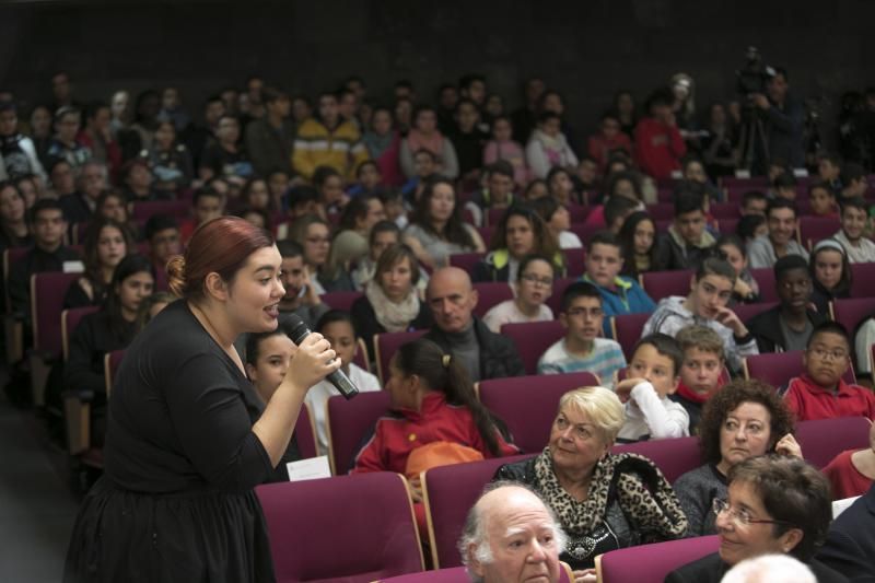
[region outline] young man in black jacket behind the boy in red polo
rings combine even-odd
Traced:
[[[760,353],[805,350],[812,330],[827,319],[810,307],[808,263],[798,255],[778,259],[774,285],[781,303],[750,318],[747,327],[757,339]]]

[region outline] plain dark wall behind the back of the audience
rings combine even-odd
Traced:
[[[45,100],[65,69],[80,97],[175,84],[197,110],[249,73],[306,93],[358,73],[376,96],[408,78],[431,98],[479,71],[515,106],[521,81],[539,74],[583,128],[617,89],[643,98],[678,71],[696,79],[700,110],[730,97],[755,44],[797,93],[827,97],[831,119],[840,92],[875,83],[873,21],[865,0],[23,2],[0,8],[0,88]]]

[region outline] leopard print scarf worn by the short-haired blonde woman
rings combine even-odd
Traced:
[[[540,494],[571,535],[590,533],[602,524],[615,499],[640,533],[679,538],[687,530],[687,517],[668,480],[653,462],[638,454],[608,454],[599,459],[583,502],[559,485],[549,447],[535,460],[535,477]]]

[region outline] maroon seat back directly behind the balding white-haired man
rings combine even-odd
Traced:
[[[435,569],[462,564],[456,543],[465,517],[483,486],[504,464],[532,457],[513,456],[434,467],[422,473],[422,500],[429,524],[432,564]]]

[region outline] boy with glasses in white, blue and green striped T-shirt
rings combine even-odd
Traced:
[[[591,372],[602,386],[614,385],[614,375],[626,366],[620,345],[599,338],[605,313],[602,294],[592,283],[578,281],[562,294],[559,322],[564,338],[555,342],[538,361],[538,374]]]

